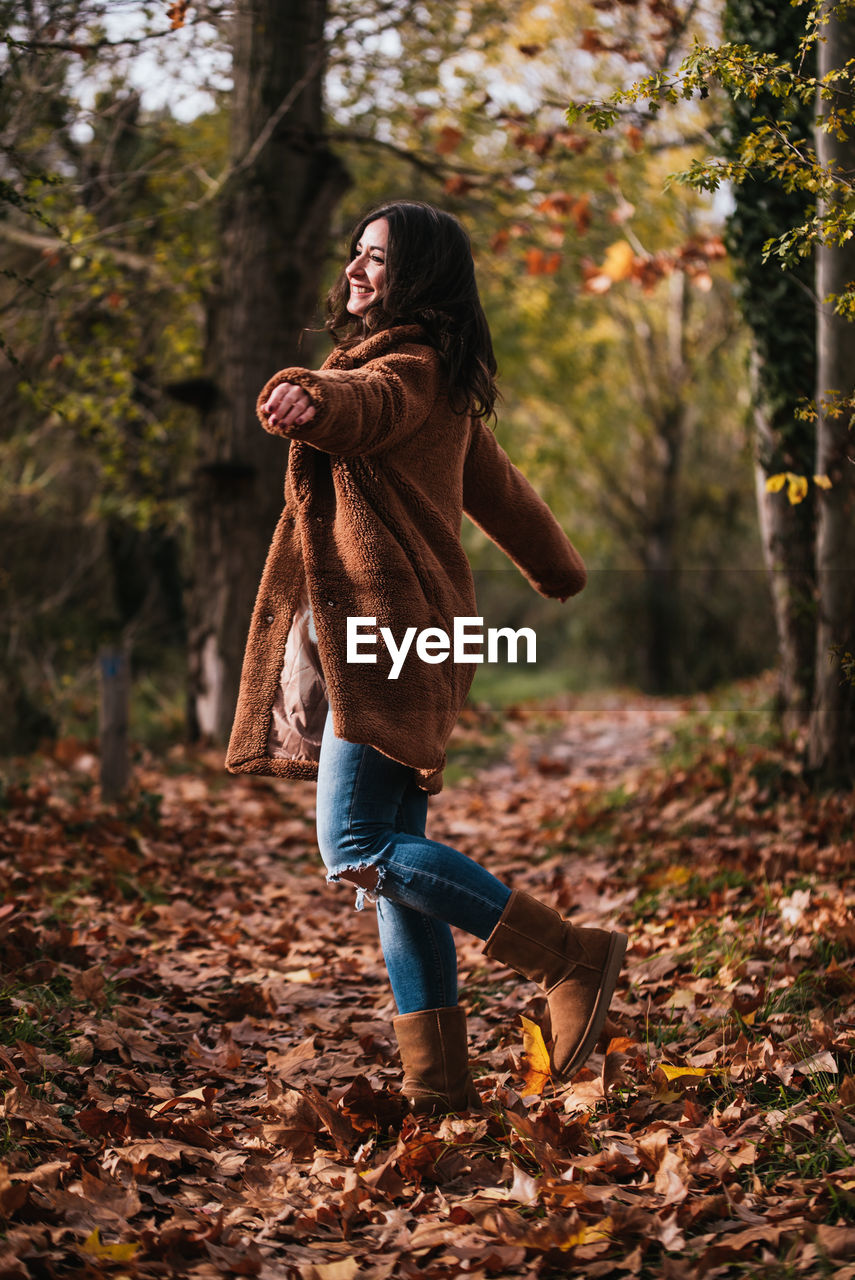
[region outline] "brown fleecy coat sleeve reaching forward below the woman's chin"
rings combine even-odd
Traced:
[[[274,387],[294,383],[315,406],[302,426],[271,426],[261,406]],[[381,453],[413,435],[444,390],[439,357],[431,347],[408,347],[356,369],[283,369],[259,396],[261,425],[273,435],[303,440],[340,457]]]

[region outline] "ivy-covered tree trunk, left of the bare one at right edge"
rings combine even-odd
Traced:
[[[726,0],[724,36],[733,44],[792,59],[803,35],[804,13],[788,0]],[[810,76],[813,54],[799,59],[803,73]],[[779,110],[779,100],[764,90],[736,97],[727,113],[726,152],[739,156],[742,141],[756,128],[756,116],[774,119]],[[813,104],[790,101],[787,119],[795,137],[809,134]],[[778,640],[778,700],[788,731],[808,723],[813,698],[815,504],[813,486],[804,502],[791,506],[786,494],[767,493],[765,481],[783,471],[809,475],[813,467],[814,428],[797,410],[817,383],[814,264],[801,260],[785,271],[776,261],[764,261],[763,246],[782,228],[805,221],[810,211],[810,193],[767,177],[735,187],[726,232],[754,347],[756,506]]]

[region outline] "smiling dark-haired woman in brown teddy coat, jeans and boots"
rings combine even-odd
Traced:
[[[285,509],[227,767],[317,778],[328,879],[355,884],[360,908],[366,893],[376,902],[404,1097],[417,1114],[457,1111],[477,1094],[451,925],[544,989],[559,1075],[596,1043],[626,937],[576,928],[426,838],[474,667],[430,644],[399,669],[385,644],[348,652],[348,618],[398,646],[411,627],[436,639],[471,618],[463,511],[543,595],[575,595],[585,568],[485,425],[495,360],[459,223],[413,202],[374,210],[328,311],[337,346],[323,369],[284,369],[259,397],[265,429],[291,440]]]

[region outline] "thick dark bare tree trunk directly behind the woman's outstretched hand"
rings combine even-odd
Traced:
[[[261,429],[255,402],[271,374],[301,362],[332,212],[348,184],[323,133],[325,12],[325,0],[238,0],[233,18],[234,172],[207,312],[216,394],[201,421],[189,591],[191,731],[212,741],[230,728],[255,591],[282,509],[287,447]],[[270,136],[259,146],[265,127]]]

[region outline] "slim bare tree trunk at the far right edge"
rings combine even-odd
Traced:
[[[837,17],[829,8],[823,36],[820,79],[855,58],[855,18],[849,12]],[[822,114],[829,111],[832,100],[833,93],[822,95]],[[837,129],[817,131],[823,168],[849,173],[855,168],[855,138],[847,131],[842,138]],[[850,429],[855,324],[835,315],[826,300],[843,293],[854,280],[855,242],[822,246],[817,253],[817,474],[828,476],[831,489],[820,490],[818,497],[817,686],[808,760],[823,781],[843,786],[851,783],[855,764],[855,689],[842,667],[846,653],[855,653],[855,438]]]

